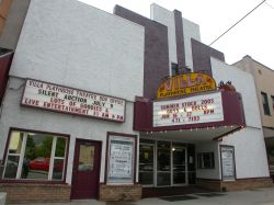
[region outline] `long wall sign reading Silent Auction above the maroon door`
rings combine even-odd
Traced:
[[[125,121],[123,99],[31,79],[26,80],[21,105],[121,123]]]

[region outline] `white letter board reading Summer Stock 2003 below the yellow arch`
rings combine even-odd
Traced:
[[[153,127],[224,121],[221,93],[153,102]]]

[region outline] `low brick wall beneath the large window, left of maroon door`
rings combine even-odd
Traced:
[[[5,203],[69,202],[68,184],[0,183],[0,192],[7,193]]]

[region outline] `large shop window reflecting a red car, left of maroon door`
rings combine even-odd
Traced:
[[[62,181],[67,144],[62,136],[12,130],[2,178]]]

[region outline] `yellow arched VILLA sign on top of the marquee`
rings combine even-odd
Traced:
[[[192,72],[170,77],[158,89],[158,99],[216,90],[215,80],[205,73]]]

